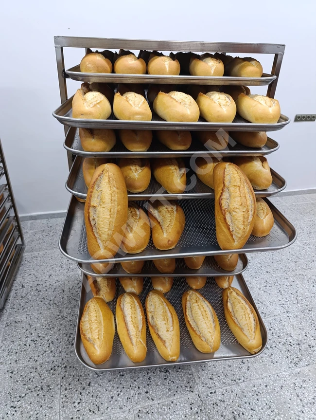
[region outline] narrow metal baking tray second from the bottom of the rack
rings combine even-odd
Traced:
[[[176,269],[171,274],[160,273],[152,260],[144,261],[140,274],[126,273],[120,263],[115,263],[113,268],[106,274],[96,274],[90,264],[81,264],[78,262],[77,265],[84,274],[94,277],[183,277],[192,275],[215,277],[218,275],[236,275],[242,273],[248,267],[248,258],[246,254],[240,254],[235,270],[229,272],[221,269],[213,256],[207,256],[198,270],[189,268],[183,258],[176,258]]]

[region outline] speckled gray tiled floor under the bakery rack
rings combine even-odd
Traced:
[[[316,419],[316,194],[272,199],[298,230],[244,273],[269,332],[257,358],[96,373],[74,349],[80,275],[62,219],[23,222],[27,248],[0,310],[0,419]]]

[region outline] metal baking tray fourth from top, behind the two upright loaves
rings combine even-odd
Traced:
[[[74,196],[86,199],[88,187],[85,183],[82,172],[83,159],[77,156],[71,166],[66,189]],[[187,163],[187,167],[189,163]],[[285,180],[273,169],[271,169],[273,178],[271,186],[265,190],[255,190],[256,197],[270,197],[281,192],[286,187]],[[128,192],[128,200],[150,200],[154,199],[201,199],[213,198],[214,190],[200,181],[192,170],[187,173],[187,190],[183,194],[168,194],[167,191],[156,181],[152,175],[150,184],[145,191],[141,193]]]

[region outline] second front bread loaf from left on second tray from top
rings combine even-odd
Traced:
[[[152,117],[146,99],[135,92],[115,93],[113,112],[118,120],[151,121]]]

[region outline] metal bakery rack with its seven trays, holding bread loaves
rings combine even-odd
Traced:
[[[86,228],[84,223],[84,201],[87,195],[82,174],[83,158],[155,158],[155,157],[182,157],[188,159],[187,167],[190,167],[189,160],[194,156],[215,156],[234,157],[234,156],[262,156],[276,151],[279,148],[278,143],[270,138],[270,132],[284,128],[289,122],[289,118],[281,114],[280,120],[276,124],[251,124],[236,115],[234,121],[230,124],[208,123],[200,118],[196,123],[166,122],[161,120],[153,113],[152,121],[122,121],[117,120],[112,114],[107,120],[85,120],[72,117],[71,102],[72,97],[68,98],[67,79],[78,82],[100,82],[100,83],[140,83],[148,84],[172,84],[172,85],[246,85],[251,87],[267,86],[267,96],[274,97],[278,78],[281,69],[282,57],[285,46],[282,44],[251,44],[251,43],[221,43],[221,42],[182,42],[182,41],[152,41],[135,39],[111,39],[111,38],[87,38],[87,37],[55,37],[55,51],[57,60],[57,71],[59,79],[59,90],[61,105],[53,112],[53,116],[64,125],[66,139],[64,147],[67,150],[70,174],[66,181],[66,188],[72,194],[70,204],[67,210],[66,218],[61,232],[59,247],[61,252],[71,260],[77,262],[82,273],[82,285],[78,310],[78,321],[75,337],[75,352],[79,360],[87,367],[95,370],[124,369],[146,366],[170,365],[159,355],[147,329],[147,356],[140,364],[132,363],[126,356],[117,333],[115,334],[112,355],[103,365],[94,365],[83,347],[79,332],[79,322],[86,302],[92,297],[92,292],[88,283],[87,276],[96,276],[91,269],[91,263],[111,264],[111,269],[106,274],[100,274],[106,277],[133,276],[127,274],[121,267],[120,262],[144,260],[144,265],[140,274],[134,274],[144,277],[143,291],[140,293],[140,301],[144,305],[147,293],[152,289],[150,277],[167,275],[174,277],[174,285],[170,292],[166,293],[167,299],[174,306],[180,323],[180,357],[172,364],[192,364],[204,363],[215,360],[237,359],[254,357],[263,352],[268,334],[263,324],[263,320],[258,312],[252,296],[246,286],[242,272],[248,265],[247,257],[244,254],[250,252],[274,251],[291,245],[296,239],[296,231],[292,224],[280,213],[280,211],[267,200],[267,197],[281,192],[285,186],[285,180],[274,170],[271,170],[273,183],[267,190],[255,191],[256,196],[264,197],[272,210],[274,216],[274,227],[266,237],[258,238],[250,236],[245,247],[240,250],[234,250],[239,253],[239,260],[236,269],[228,273],[222,270],[215,262],[213,256],[219,254],[231,254],[232,251],[222,251],[218,246],[215,235],[214,218],[214,193],[213,190],[201,183],[193,172],[188,172],[189,179],[186,191],[183,194],[168,194],[161,186],[152,179],[147,190],[140,194],[128,194],[129,200],[138,201],[139,205],[146,211],[147,200],[165,200],[175,199],[181,203],[186,215],[185,230],[172,250],[159,251],[156,249],[150,239],[146,249],[140,254],[125,254],[119,250],[118,254],[110,260],[93,260],[87,249]],[[197,53],[231,53],[235,55],[254,55],[269,54],[273,55],[273,64],[270,74],[263,73],[260,78],[245,77],[196,77],[180,73],[179,76],[161,76],[161,75],[135,75],[135,74],[106,74],[106,73],[82,73],[79,65],[75,65],[69,70],[64,65],[65,48],[93,48],[98,50],[148,50],[162,52],[197,52]],[[82,56],[85,51],[82,50]],[[78,86],[79,87],[79,86]],[[155,134],[152,145],[146,152],[131,152],[123,144],[117,141],[117,144],[109,152],[88,152],[83,150],[78,128],[113,128],[113,129],[172,129],[172,130],[190,130],[192,132],[192,145],[185,151],[173,151],[161,145]],[[195,138],[195,130],[232,130],[232,131],[269,131],[268,141],[262,148],[250,148],[229,142],[229,145],[221,151],[209,150],[198,142]],[[191,270],[184,263],[183,257],[186,256],[207,256],[199,270]],[[176,258],[176,270],[172,274],[161,274],[153,264],[154,259]],[[263,347],[255,355],[249,354],[241,347],[225,321],[222,290],[216,285],[214,277],[218,275],[234,275],[232,286],[244,293],[251,302],[258,314]],[[98,274],[99,275],[99,274]],[[192,343],[190,335],[186,329],[183,313],[181,310],[182,293],[189,289],[185,281],[185,276],[203,275],[207,276],[206,285],[199,290],[211,303],[217,313],[221,329],[221,346],[213,354],[203,354],[199,352]],[[116,296],[109,307],[114,312],[117,297],[123,293],[123,288],[119,281],[116,282]]]

